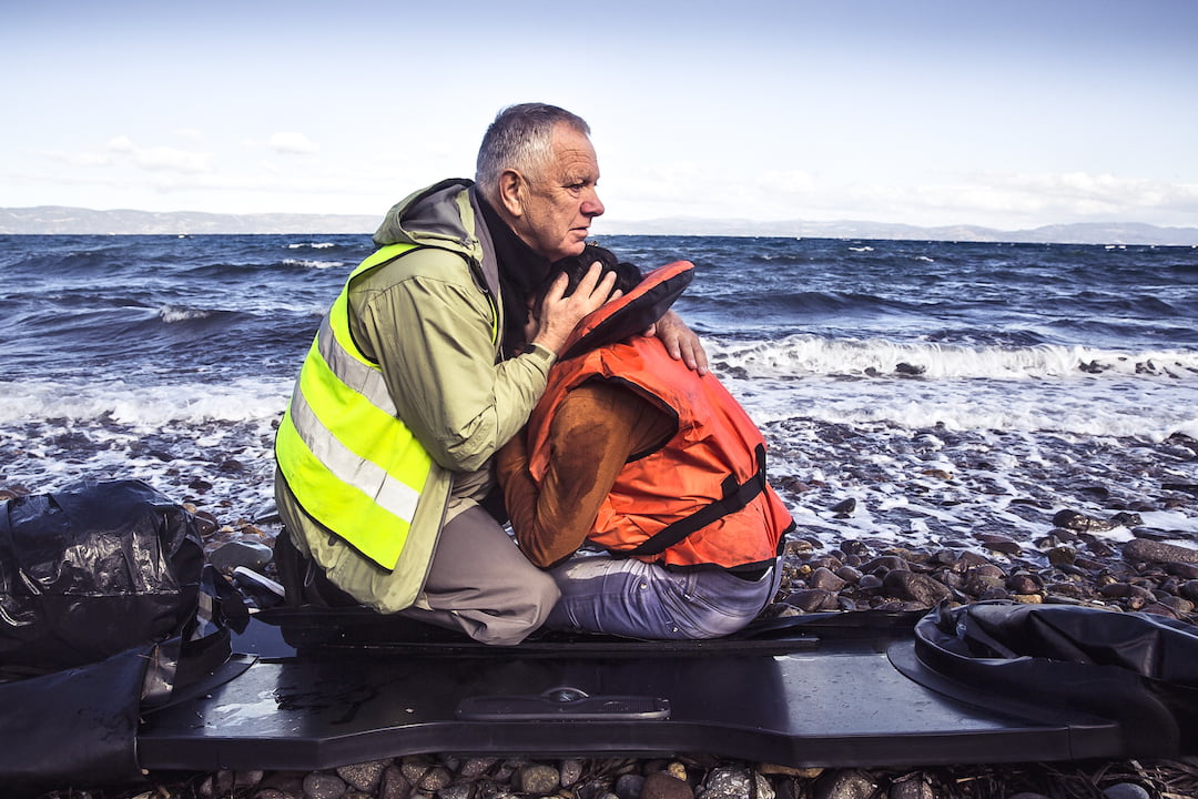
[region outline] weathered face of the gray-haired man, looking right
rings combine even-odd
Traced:
[[[541,174],[525,176],[524,213],[513,229],[537,253],[556,261],[582,252],[591,220],[604,207],[595,192],[599,161],[591,140],[558,125],[552,146],[549,167]]]

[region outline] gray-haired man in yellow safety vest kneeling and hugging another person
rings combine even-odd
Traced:
[[[588,135],[563,109],[510,107],[486,131],[474,183],[443,181],[387,213],[279,425],[276,559],[289,601],[363,604],[495,644],[519,643],[552,610],[553,580],[483,503],[494,454],[611,291],[598,266],[569,297],[562,280],[521,346],[527,297],[604,212]],[[677,316],[657,334],[706,370]]]

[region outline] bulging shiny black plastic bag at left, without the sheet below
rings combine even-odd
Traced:
[[[204,546],[138,480],[84,480],[0,506],[0,676],[97,662],[183,635]]]

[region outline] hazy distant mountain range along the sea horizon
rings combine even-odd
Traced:
[[[376,216],[315,213],[199,213],[176,211],[93,211],[66,206],[0,208],[0,235],[183,235],[183,234],[371,234]],[[883,222],[756,222],[678,217],[628,222],[604,219],[604,235],[794,236],[801,238],[889,238],[901,241],[1037,242],[1082,244],[1198,246],[1198,228],[1137,223],[1079,223],[1030,230],[976,225],[920,228]]]

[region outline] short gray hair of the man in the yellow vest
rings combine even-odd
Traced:
[[[506,169],[526,175],[544,170],[553,157],[552,137],[557,125],[591,135],[586,120],[557,105],[522,103],[501,110],[478,147],[474,182],[483,196],[492,202],[496,200],[496,186]]]

